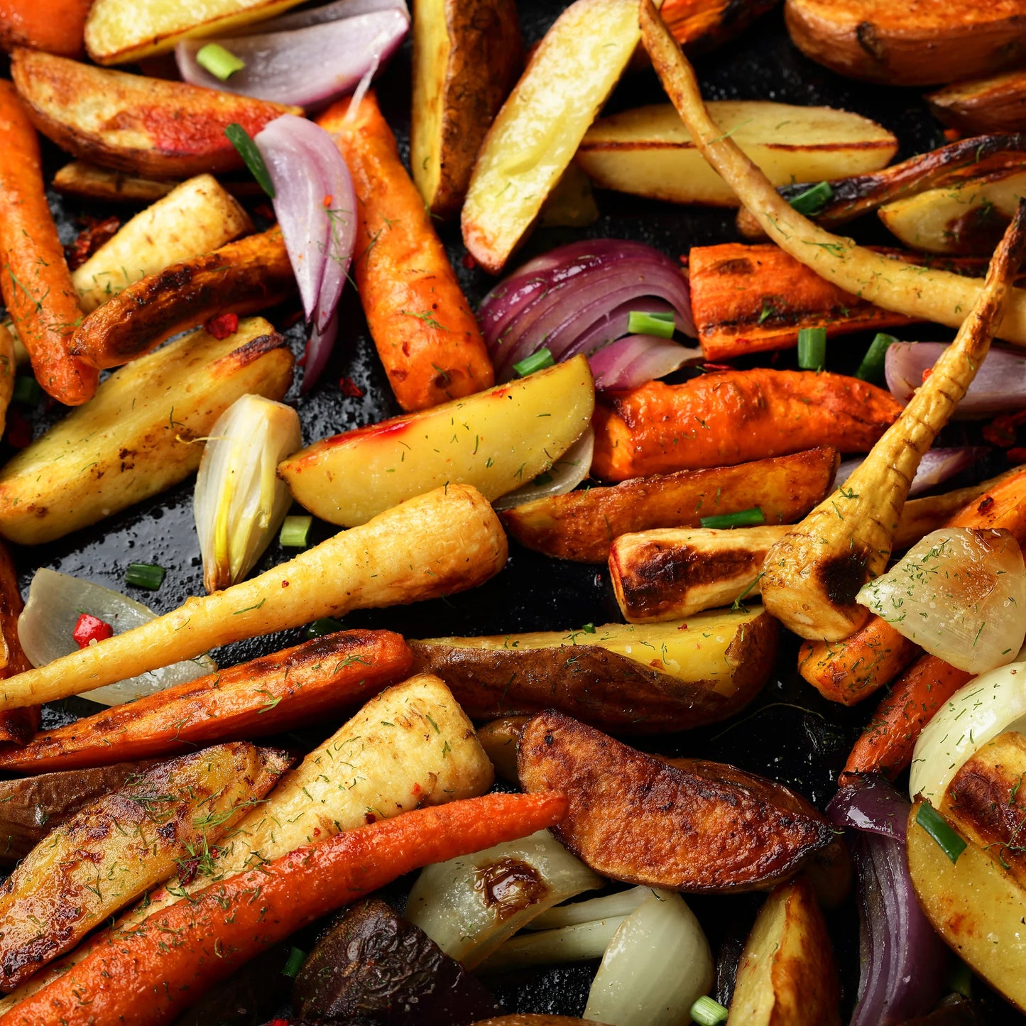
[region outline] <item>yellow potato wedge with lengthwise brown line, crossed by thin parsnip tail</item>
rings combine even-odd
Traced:
[[[709,111],[778,186],[875,171],[898,151],[898,140],[874,121],[829,107],[724,100],[710,103]],[[671,203],[738,206],[672,104],[599,119],[576,159],[603,189]]]

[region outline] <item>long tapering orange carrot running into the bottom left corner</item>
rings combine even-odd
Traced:
[[[101,940],[0,1026],[160,1026],[289,934],[421,866],[553,826],[558,792],[489,794],[358,827],[191,895]]]

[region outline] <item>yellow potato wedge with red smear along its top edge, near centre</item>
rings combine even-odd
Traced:
[[[548,470],[584,434],[594,409],[588,361],[576,356],[314,442],[279,464],[278,476],[298,503],[344,527],[449,481],[472,484],[490,501]]]

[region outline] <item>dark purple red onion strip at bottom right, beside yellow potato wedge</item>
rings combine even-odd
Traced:
[[[941,995],[947,948],[919,909],[905,859],[911,805],[887,783],[862,779],[827,806],[850,835],[859,874],[859,995],[851,1026],[925,1015]]]

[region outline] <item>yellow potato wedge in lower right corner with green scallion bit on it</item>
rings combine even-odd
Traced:
[[[1026,891],[970,838],[952,862],[908,817],[908,872],[926,918],[945,943],[1008,1000],[1026,1012]]]

